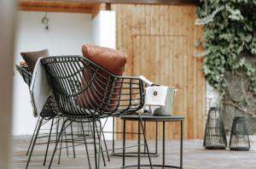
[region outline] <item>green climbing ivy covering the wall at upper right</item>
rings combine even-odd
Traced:
[[[256,57],[256,0],[201,0],[196,25],[204,25],[197,45],[205,51],[203,72],[207,81],[224,96],[226,71],[244,69],[249,90],[256,94],[256,65],[238,56],[246,51]]]

